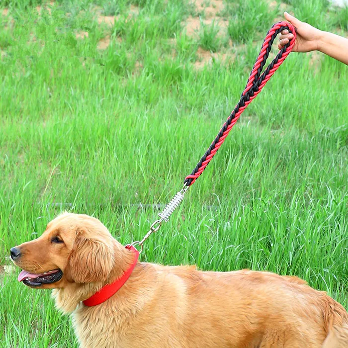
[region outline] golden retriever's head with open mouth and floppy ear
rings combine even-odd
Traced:
[[[71,283],[106,283],[124,249],[97,219],[64,213],[41,237],[11,248],[22,268],[19,281],[35,288],[65,288]]]

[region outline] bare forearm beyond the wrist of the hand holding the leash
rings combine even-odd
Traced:
[[[348,39],[323,31],[318,42],[318,51],[348,65]]]

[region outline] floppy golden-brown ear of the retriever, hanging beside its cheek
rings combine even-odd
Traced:
[[[105,282],[113,267],[113,251],[106,243],[78,234],[64,270],[70,282]]]

